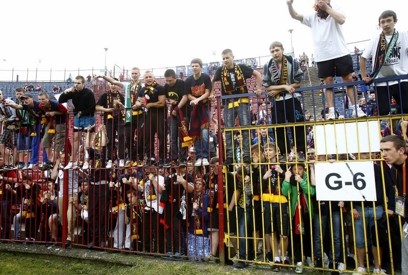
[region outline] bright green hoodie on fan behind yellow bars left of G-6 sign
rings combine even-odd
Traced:
[[[303,179],[300,183],[300,188],[303,190],[303,197],[306,202],[307,210],[310,210],[313,218],[313,203],[309,203],[309,195],[312,197],[316,194],[316,187],[308,184],[308,173],[303,173]],[[282,194],[289,198],[291,218],[295,216],[296,204],[297,204],[297,186],[291,185],[290,182],[284,180],[282,183]]]

